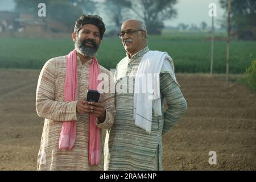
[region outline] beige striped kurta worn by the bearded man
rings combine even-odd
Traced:
[[[89,84],[89,65],[92,60],[82,65],[77,56],[77,94],[76,101],[64,101],[64,82],[66,57],[60,56],[48,60],[38,80],[36,90],[36,111],[44,120],[44,127],[38,153],[38,170],[102,170],[104,151],[101,130],[101,161],[96,166],[88,162],[89,115],[76,113],[78,100],[85,100]],[[101,67],[104,86],[110,88],[110,72]],[[105,89],[106,91],[106,89]],[[114,93],[102,93],[100,102],[106,109],[103,123],[96,122],[100,129],[109,129],[113,125],[115,114]],[[76,143],[73,150],[60,150],[59,137],[63,121],[77,121]]]

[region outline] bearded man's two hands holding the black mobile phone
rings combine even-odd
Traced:
[[[76,111],[79,114],[92,114],[98,118],[100,122],[106,119],[106,109],[104,104],[97,102],[78,101]]]

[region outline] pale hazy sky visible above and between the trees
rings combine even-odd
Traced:
[[[158,1],[158,0],[156,0]],[[224,9],[221,9],[219,0],[177,0],[175,8],[177,10],[177,18],[167,20],[164,22],[166,26],[177,26],[179,23],[185,23],[191,25],[199,24],[204,21],[210,26],[211,18],[208,15],[209,3],[216,3],[217,5],[217,19],[221,19],[224,14]],[[13,10],[13,0],[0,0],[0,11]],[[105,19],[104,17],[102,17]]]

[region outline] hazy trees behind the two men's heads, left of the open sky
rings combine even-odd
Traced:
[[[174,5],[177,0],[15,0],[15,9],[20,13],[34,13],[38,11],[38,4],[45,3],[46,18],[54,19],[73,27],[74,21],[83,13],[101,14],[105,11],[114,26],[119,29],[123,20],[139,18],[147,26],[148,34],[160,34],[164,28],[164,20],[175,18]]]

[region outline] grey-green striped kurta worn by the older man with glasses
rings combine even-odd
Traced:
[[[162,135],[166,134],[187,110],[187,102],[179,85],[168,69],[162,68],[160,92],[163,115],[155,117],[152,110],[150,134],[135,125],[134,81],[142,56],[147,51],[149,51],[148,47],[137,52],[132,59],[125,57],[115,70],[116,115],[112,128],[106,134],[105,170],[162,170]],[[170,64],[167,58],[164,61],[164,64]],[[120,89],[123,93],[120,93]],[[164,111],[164,98],[168,105],[166,111]]]

